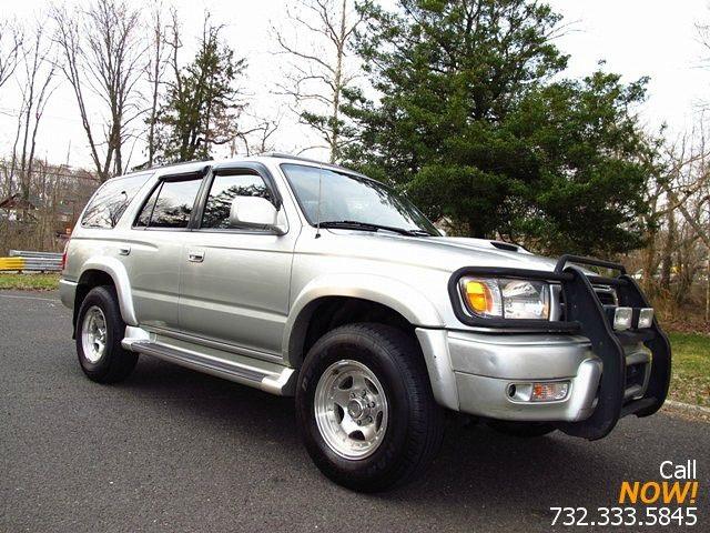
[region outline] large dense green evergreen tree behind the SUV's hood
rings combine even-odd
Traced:
[[[646,80],[559,79],[561,17],[526,0],[361,4],[358,49],[378,101],[348,91],[346,158],[462,233],[547,252],[639,245],[649,169],[631,110]]]

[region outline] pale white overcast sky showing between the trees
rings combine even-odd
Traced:
[[[129,0],[145,6],[145,0]],[[390,0],[386,0],[390,2]],[[59,1],[58,3],[63,3]],[[296,152],[315,139],[305,127],[283,110],[275,97],[275,81],[283,74],[283,56],[275,56],[272,27],[287,24],[287,0],[258,2],[232,0],[163,0],[175,6],[183,21],[201,21],[209,10],[213,19],[225,24],[224,38],[237,56],[246,57],[248,69],[243,89],[251,95],[251,112],[271,118],[282,117],[282,129],[274,139],[280,151]],[[710,102],[710,56],[699,42],[697,23],[710,23],[710,0],[548,0],[564,16],[565,33],[557,39],[562,52],[570,54],[565,76],[578,78],[594,71],[598,62],[604,69],[622,74],[630,82],[650,78],[648,100],[639,109],[650,131],[667,125],[666,134],[677,138],[689,131],[698,118],[698,109]],[[47,0],[0,0],[0,18],[31,20],[47,10]],[[185,32],[190,31],[187,24]],[[185,51],[185,58],[190,54]],[[0,92],[0,154],[11,151],[14,119],[19,102],[17,89],[3,87]],[[143,161],[143,147],[133,148],[132,163]],[[310,155],[324,157],[318,151]],[[42,119],[38,135],[38,155],[50,162],[68,162],[90,167],[85,134],[77,104],[67,83],[60,86]]]

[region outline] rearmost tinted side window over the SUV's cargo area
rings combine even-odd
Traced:
[[[114,178],[106,181],[87,205],[81,225],[84,228],[113,228],[125,209],[145,183],[150,174]]]

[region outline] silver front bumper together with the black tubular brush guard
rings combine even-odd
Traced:
[[[618,270],[620,275],[587,275],[568,262]],[[457,290],[464,275],[558,283],[562,320],[466,314]],[[619,305],[630,308],[628,331],[612,329],[592,282],[615,286]],[[620,418],[649,416],[666,401],[670,344],[656,319],[650,326],[638,328],[641,309],[649,303],[622,265],[564,255],[552,272],[466,266],[452,274],[448,289],[456,316],[471,330],[417,329],[434,395],[442,405],[495,419],[550,421],[567,434],[596,440],[609,434]],[[551,383],[559,381],[566,384]],[[539,400],[545,396],[539,391],[565,386],[560,400],[530,401],[531,391]]]

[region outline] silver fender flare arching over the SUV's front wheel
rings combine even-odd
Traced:
[[[318,300],[347,296],[385,305],[414,326],[442,328],[444,321],[434,303],[414,286],[394,278],[372,274],[325,274],[311,281],[293,301],[284,328],[284,360],[297,366],[298,354]]]

